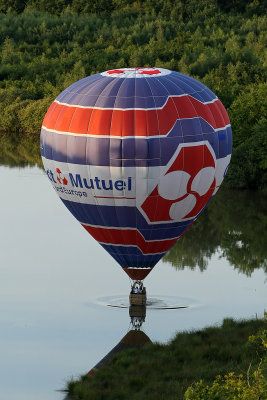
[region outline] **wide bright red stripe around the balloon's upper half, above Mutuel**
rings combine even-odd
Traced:
[[[175,122],[202,117],[214,129],[230,123],[219,99],[203,104],[191,96],[169,97],[163,108],[153,110],[117,110],[80,108],[52,103],[43,126],[60,132],[110,136],[167,135]]]

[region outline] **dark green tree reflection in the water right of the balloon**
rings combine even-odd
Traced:
[[[264,194],[221,188],[163,262],[204,271],[218,253],[247,276],[258,268],[267,273],[266,211]]]

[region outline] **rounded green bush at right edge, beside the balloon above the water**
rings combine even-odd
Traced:
[[[267,186],[266,93],[266,83],[249,86],[231,105],[230,119],[234,132],[235,152],[227,177],[229,186],[236,188]]]

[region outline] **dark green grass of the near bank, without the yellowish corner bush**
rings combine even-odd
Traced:
[[[70,382],[69,395],[82,400],[184,399],[187,388],[201,379],[212,384],[217,375],[234,371],[246,376],[249,368],[252,374],[259,366],[263,347],[257,340],[248,344],[248,338],[263,328],[263,320],[226,319],[221,327],[179,333],[167,345],[127,350],[115,355],[94,376]]]

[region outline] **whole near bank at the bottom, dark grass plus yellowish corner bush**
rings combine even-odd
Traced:
[[[125,350],[94,375],[70,381],[67,399],[266,399],[266,332],[263,319],[225,319],[168,344]]]

